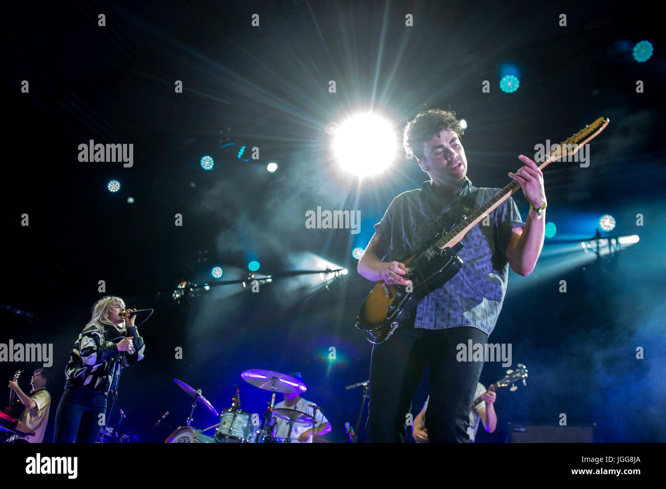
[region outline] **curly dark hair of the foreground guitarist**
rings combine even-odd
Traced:
[[[405,126],[402,136],[402,147],[408,160],[415,156],[424,159],[423,143],[424,141],[439,137],[442,130],[450,130],[456,132],[458,136],[465,134],[465,131],[460,127],[460,121],[456,119],[456,112],[453,110],[442,110],[440,108],[431,108],[419,112]]]

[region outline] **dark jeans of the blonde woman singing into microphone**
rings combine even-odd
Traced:
[[[55,412],[54,443],[95,443],[106,416],[107,397],[84,387],[66,387]],[[105,420],[106,421],[106,420]]]

